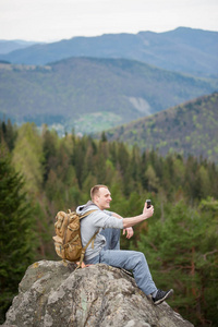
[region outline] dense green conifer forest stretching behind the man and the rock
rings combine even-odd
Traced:
[[[183,317],[198,327],[216,326],[217,180],[217,166],[206,159],[164,158],[108,142],[105,134],[100,141],[74,134],[60,138],[46,126],[39,133],[33,123],[17,128],[1,121],[1,319],[27,265],[58,259],[57,211],[75,209],[89,199],[90,186],[104,183],[112,194],[111,210],[123,217],[141,214],[152,198],[155,216],[134,227],[132,240],[122,237],[122,249],[145,253],[158,287],[174,289],[169,303]]]

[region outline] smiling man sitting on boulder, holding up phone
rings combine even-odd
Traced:
[[[90,190],[90,198],[92,201],[76,209],[80,215],[95,210],[81,220],[83,246],[99,230],[94,246],[89,245],[85,252],[85,264],[101,263],[132,270],[138,288],[146,295],[152,295],[155,304],[160,304],[173,293],[173,290],[161,291],[157,289],[143,253],[120,250],[120,229],[123,229],[126,237],[131,238],[133,234],[132,227],[152,217],[154,207],[147,208],[145,203],[142,215],[122,218],[116,213],[106,210],[110,208],[112,201],[110,191],[106,185],[95,185]]]

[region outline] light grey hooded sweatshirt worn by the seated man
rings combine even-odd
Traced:
[[[113,217],[111,211],[100,210],[92,201],[88,201],[85,205],[76,208],[78,215],[84,215],[90,210],[96,211],[81,219],[81,238],[83,246],[88,243],[98,230],[101,231],[102,228],[123,229],[123,219]],[[92,244],[89,244],[85,252],[85,261],[89,261],[97,256],[105,245],[105,237],[98,233],[94,242],[94,249],[92,249]]]

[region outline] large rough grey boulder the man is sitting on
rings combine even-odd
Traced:
[[[28,267],[4,327],[191,327],[166,302],[154,305],[124,271],[69,262]]]

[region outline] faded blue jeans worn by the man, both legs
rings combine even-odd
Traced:
[[[106,264],[112,267],[132,270],[137,287],[146,294],[157,290],[142,252],[120,250],[120,229],[107,228],[100,232],[107,241],[100,254],[85,264]]]

